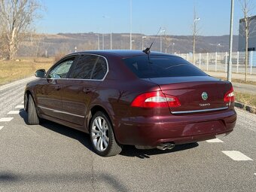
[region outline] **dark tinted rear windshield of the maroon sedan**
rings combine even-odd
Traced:
[[[134,56],[123,59],[138,78],[207,76],[196,66],[178,56]]]

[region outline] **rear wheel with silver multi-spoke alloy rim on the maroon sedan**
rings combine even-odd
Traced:
[[[90,141],[96,154],[109,157],[120,154],[122,146],[114,139],[113,126],[108,117],[98,111],[90,123]]]

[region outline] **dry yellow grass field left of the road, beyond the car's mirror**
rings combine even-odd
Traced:
[[[49,69],[54,58],[23,57],[15,61],[0,61],[0,85],[35,74],[37,69]]]

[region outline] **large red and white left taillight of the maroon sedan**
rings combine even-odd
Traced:
[[[140,108],[175,108],[180,106],[180,102],[177,97],[164,95],[160,91],[143,93],[133,100],[133,107]]]

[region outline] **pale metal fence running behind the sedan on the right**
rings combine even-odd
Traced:
[[[179,56],[193,62],[193,53],[181,53]],[[229,56],[227,52],[220,53],[196,53],[195,63],[204,71],[227,72]],[[245,52],[232,53],[232,72],[245,73]],[[256,51],[248,52],[248,75],[256,75]]]

